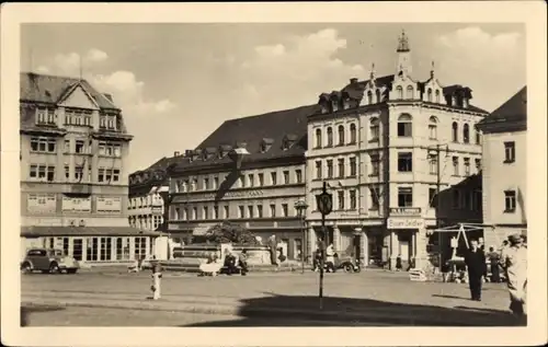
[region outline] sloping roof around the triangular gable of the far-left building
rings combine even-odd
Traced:
[[[21,72],[20,78],[21,101],[57,104],[70,90],[81,84],[101,108],[119,109],[87,80],[34,72]]]

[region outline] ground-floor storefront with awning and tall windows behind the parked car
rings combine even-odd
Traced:
[[[156,232],[128,227],[22,227],[21,254],[32,247],[62,250],[83,264],[112,265],[150,258]]]

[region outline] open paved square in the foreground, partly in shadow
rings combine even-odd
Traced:
[[[95,325],[93,322],[102,314],[112,317],[104,320],[111,322],[110,325],[128,322],[149,325],[151,322],[162,326],[163,322],[172,322],[171,325],[259,326],[279,325],[278,321],[287,325],[322,325],[326,321],[345,325],[516,324],[507,313],[505,286],[500,284],[487,284],[483,301],[475,302],[468,300],[466,285],[411,282],[401,273],[327,274],[323,310],[319,310],[318,277],[311,271],[215,278],[167,274],[162,281],[162,299],[152,301],[147,300],[149,273],[27,275],[22,278],[22,301],[27,306],[26,312],[31,312],[27,320],[59,316],[43,322],[60,325]],[[28,306],[33,303],[34,306]],[[37,313],[41,310],[33,308],[41,304],[60,309]],[[79,317],[79,323],[70,323],[78,315],[73,313],[78,312],[76,308],[85,306],[96,309],[87,314],[89,322],[84,324],[87,321]],[[116,310],[148,312],[135,313],[135,320],[124,323],[116,321],[117,316],[125,320]],[[153,316],[150,311],[165,320],[148,320],[147,316]],[[184,319],[178,323],[170,319],[171,315]],[[27,324],[34,325],[33,322]]]

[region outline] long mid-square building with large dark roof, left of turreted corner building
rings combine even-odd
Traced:
[[[263,242],[276,234],[288,258],[298,258],[304,238],[295,203],[305,198],[307,117],[316,107],[227,120],[180,157],[170,186],[174,241],[229,220]]]

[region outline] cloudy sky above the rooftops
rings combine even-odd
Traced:
[[[122,108],[129,172],[199,144],[222,122],[315,104],[351,78],[396,71],[409,37],[415,80],[472,90],[489,112],[526,83],[525,27],[478,23],[24,24],[21,69],[78,77]]]

